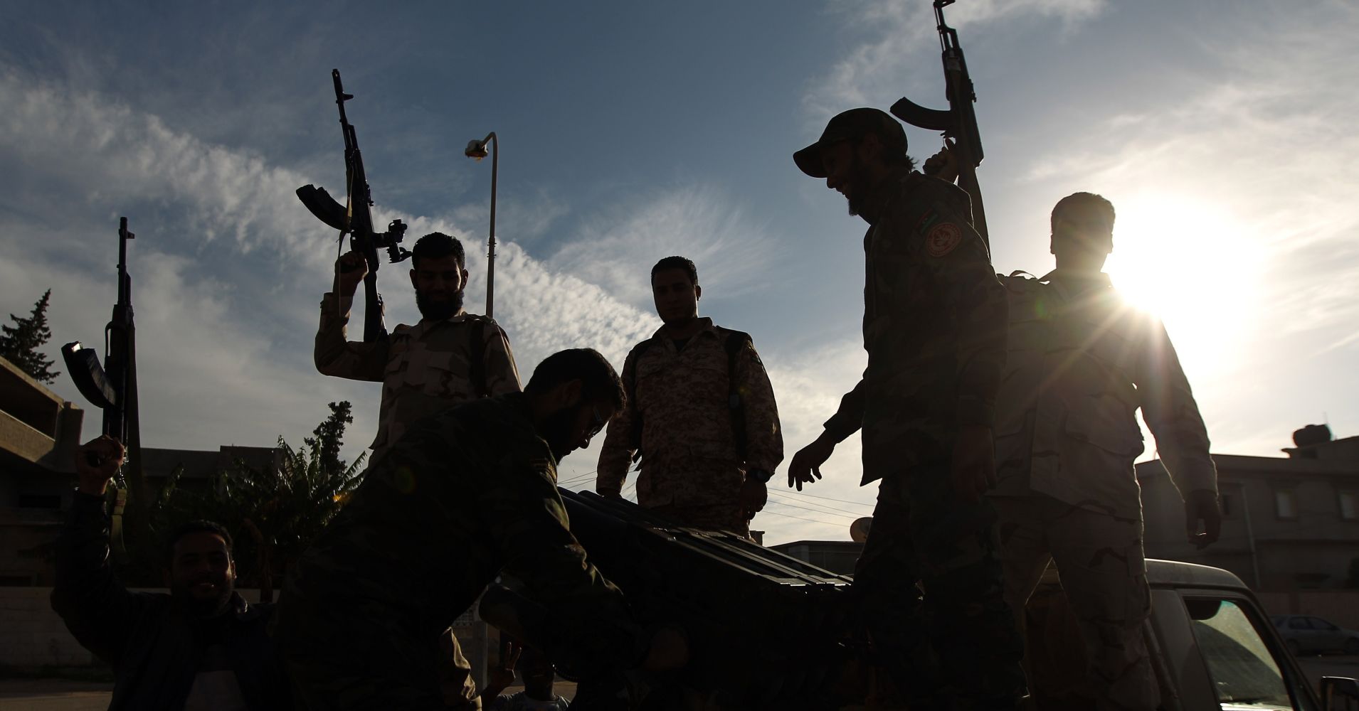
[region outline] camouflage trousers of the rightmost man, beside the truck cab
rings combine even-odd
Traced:
[[[1029,596],[1055,562],[1086,650],[1086,683],[1076,695],[1099,710],[1155,708],[1161,695],[1142,636],[1151,615],[1142,521],[1042,494],[992,502],[1000,514],[1006,601],[1021,626]]]

